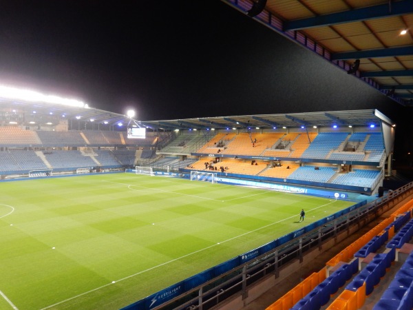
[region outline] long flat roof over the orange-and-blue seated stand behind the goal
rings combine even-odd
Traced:
[[[381,122],[394,125],[393,121],[378,110],[352,110],[330,112],[306,112],[291,114],[259,114],[242,116],[220,116],[204,118],[185,118],[163,121],[139,121],[153,130],[189,129],[255,129],[274,127],[330,127],[337,126],[378,126]]]

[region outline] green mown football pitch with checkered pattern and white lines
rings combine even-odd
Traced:
[[[0,309],[19,310],[119,309],[354,204],[126,173],[0,188]]]

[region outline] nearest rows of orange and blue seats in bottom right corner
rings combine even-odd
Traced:
[[[412,240],[412,211],[413,200],[409,200],[390,217],[334,256],[325,268],[312,273],[266,310],[306,310],[321,307],[328,310],[363,309],[366,300],[371,298],[376,287],[380,282],[385,282],[383,278],[394,268],[399,271],[383,294],[381,290],[376,290],[381,294],[381,298],[372,309],[412,309],[412,249],[401,265],[394,265],[394,262],[399,260],[398,254],[403,244]],[[394,231],[398,230],[394,235]],[[401,236],[404,236],[404,239]],[[384,247],[385,242],[388,243]],[[345,288],[340,289],[344,285]]]

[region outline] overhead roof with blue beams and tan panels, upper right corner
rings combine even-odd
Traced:
[[[222,0],[248,12],[250,0]],[[413,106],[412,0],[255,0],[254,19]],[[251,14],[249,14],[251,16]],[[401,31],[405,30],[405,34]],[[359,60],[359,66],[355,66]]]

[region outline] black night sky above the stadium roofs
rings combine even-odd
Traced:
[[[2,1],[0,84],[142,121],[377,108],[413,132],[410,108],[219,0]]]

